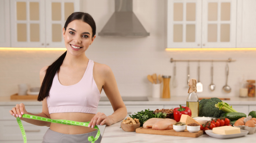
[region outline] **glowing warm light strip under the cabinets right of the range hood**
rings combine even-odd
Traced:
[[[165,48],[165,51],[254,51],[256,48]]]

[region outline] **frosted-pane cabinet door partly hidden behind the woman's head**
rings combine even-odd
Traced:
[[[62,28],[67,17],[79,11],[79,0],[47,0],[46,10],[46,47],[65,47]]]

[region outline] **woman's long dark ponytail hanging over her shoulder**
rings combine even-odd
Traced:
[[[67,51],[62,54],[56,61],[52,63],[47,69],[45,76],[43,78],[42,85],[40,87],[40,92],[37,97],[38,101],[42,101],[45,97],[49,96],[50,89],[53,84],[53,78],[55,77],[55,74],[59,72],[60,66],[63,63],[63,60],[67,54]]]

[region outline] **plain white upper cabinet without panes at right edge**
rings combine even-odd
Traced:
[[[256,1],[237,0],[237,48],[256,47]]]

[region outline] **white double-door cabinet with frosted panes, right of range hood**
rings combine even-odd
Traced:
[[[167,48],[234,48],[235,0],[168,0]]]

